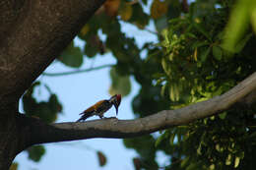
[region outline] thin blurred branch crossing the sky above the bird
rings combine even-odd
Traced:
[[[42,75],[49,76],[49,77],[67,76],[67,75],[74,75],[74,74],[96,71],[96,70],[100,70],[100,69],[104,69],[104,68],[108,68],[108,67],[112,67],[112,66],[114,66],[114,65],[107,64],[107,65],[97,66],[97,67],[93,67],[93,68],[85,69],[85,70],[76,70],[76,71],[72,71],[72,72],[63,72],[63,73],[43,73]]]

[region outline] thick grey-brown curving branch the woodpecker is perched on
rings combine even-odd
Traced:
[[[223,95],[181,109],[163,110],[136,120],[105,119],[85,123],[56,123],[46,125],[31,122],[31,143],[66,142],[92,138],[124,139],[150,134],[169,127],[185,125],[197,119],[218,114],[230,108],[256,89],[256,73]],[[28,123],[26,123],[28,125]]]

